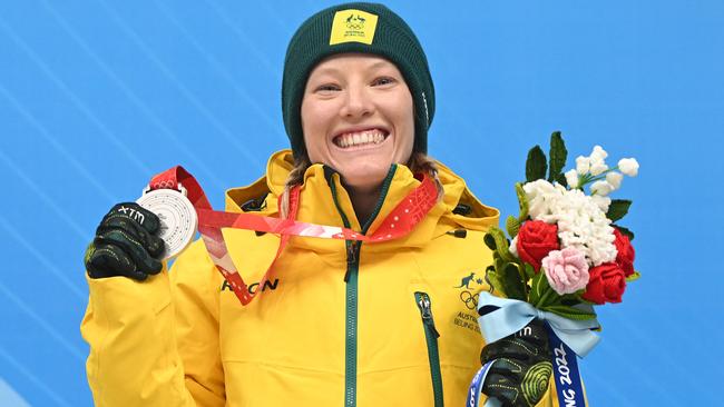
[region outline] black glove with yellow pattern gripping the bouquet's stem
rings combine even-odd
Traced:
[[[486,345],[480,361],[495,360],[482,385],[482,393],[506,407],[531,407],[548,389],[552,374],[548,331],[534,319],[518,332]]]

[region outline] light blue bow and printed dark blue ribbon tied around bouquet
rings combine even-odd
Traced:
[[[571,320],[537,309],[526,301],[499,298],[490,295],[490,292],[480,292],[478,304],[478,314],[480,314],[478,324],[488,344],[519,331],[535,318],[545,320],[549,327],[549,345],[554,354],[554,376],[558,400],[560,404],[567,403],[566,406],[585,406],[575,355],[586,356],[600,340],[593,332],[594,329],[599,328],[595,318]],[[568,356],[571,355],[574,357],[569,359]],[[467,407],[478,406],[480,390],[491,364],[492,361],[486,364],[473,377],[468,391]],[[488,398],[486,401],[486,407],[498,406],[500,406],[500,401],[493,397]]]

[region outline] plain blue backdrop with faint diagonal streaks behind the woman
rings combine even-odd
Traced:
[[[105,211],[182,163],[221,208],[287,145],[286,43],[327,2],[0,2],[0,405],[89,406],[81,257]],[[390,1],[425,49],[430,152],[517,209],[528,148],[636,157],[636,266],[583,363],[594,406],[714,405],[724,360],[724,2]],[[569,160],[570,162],[570,160]],[[716,390],[720,391],[716,391]],[[25,400],[25,401],[23,401]]]

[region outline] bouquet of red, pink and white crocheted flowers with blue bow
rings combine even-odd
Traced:
[[[609,197],[624,175],[638,173],[638,162],[624,158],[609,168],[608,153],[596,146],[564,172],[567,156],[560,132],[552,133],[548,157],[539,146],[528,152],[526,181],[516,183],[520,212],[506,220],[509,238],[499,228],[485,237],[493,252],[486,279],[499,296],[481,292],[478,310],[488,343],[544,319],[558,399],[583,406],[575,355],[598,341],[593,306],[620,302],[626,284],[639,277],[634,234],[620,226],[632,201]]]

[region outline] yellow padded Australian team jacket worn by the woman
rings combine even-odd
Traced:
[[[268,192],[252,210],[276,216],[291,162],[288,150],[272,156],[265,178],[227,191],[226,210],[242,211],[243,202]],[[96,405],[433,406],[439,397],[463,406],[485,345],[476,294],[489,289],[491,254],[482,237],[499,214],[446,167],[439,176],[444,199],[409,236],[352,252],[342,240],[293,237],[246,307],[200,240],[170,272],[145,282],[88,279],[81,332],[90,344]],[[393,166],[368,232],[418,183],[407,167]],[[345,226],[343,218],[363,229],[340,176],[312,166],[297,219]],[[452,234],[459,229],[466,236]],[[244,280],[258,281],[278,236],[239,229],[224,236]],[[549,389],[539,405],[552,400]]]

